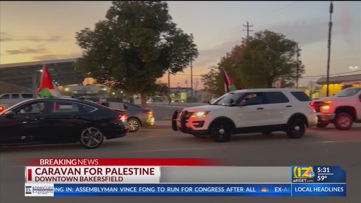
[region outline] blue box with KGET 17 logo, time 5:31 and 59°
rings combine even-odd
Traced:
[[[292,166],[292,183],[346,183],[346,172],[339,166]]]

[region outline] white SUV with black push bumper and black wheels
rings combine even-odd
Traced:
[[[172,129],[227,142],[233,134],[284,131],[301,138],[317,125],[316,105],[303,90],[249,89],[229,92],[209,105],[175,111]]]

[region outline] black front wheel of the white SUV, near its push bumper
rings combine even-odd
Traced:
[[[232,136],[232,128],[229,122],[221,120],[215,122],[210,129],[210,137],[214,142],[228,142]]]

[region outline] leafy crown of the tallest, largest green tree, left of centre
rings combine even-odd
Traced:
[[[180,72],[198,56],[193,35],[171,20],[164,1],[112,1],[106,20],[76,33],[76,68],[132,94],[155,92],[166,70]]]

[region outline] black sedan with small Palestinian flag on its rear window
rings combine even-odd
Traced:
[[[0,144],[61,144],[80,142],[85,148],[129,131],[125,111],[66,98],[40,98],[18,103],[0,114]]]

